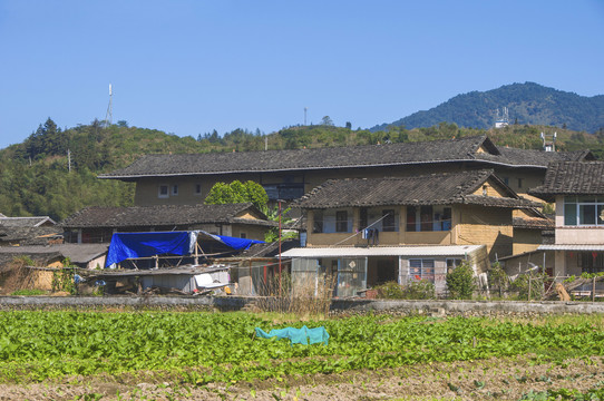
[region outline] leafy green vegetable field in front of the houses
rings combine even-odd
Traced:
[[[304,324],[325,326],[329,345],[254,336],[256,326],[269,331]],[[0,312],[0,383],[103,376],[230,387],[519,356],[523,363],[564,368],[569,359],[600,363],[603,325],[601,316],[512,321],[380,315],[274,323],[246,313]],[[455,395],[450,374],[441,379]]]

